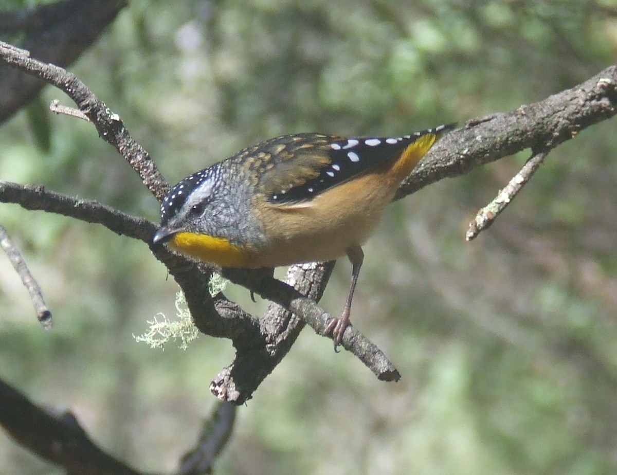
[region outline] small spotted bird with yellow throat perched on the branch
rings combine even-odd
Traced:
[[[362,245],[402,181],[454,127],[383,138],[299,133],[265,140],[173,186],[161,202],[152,244],[237,268],[347,255],[347,299],[325,329],[336,349],[350,324]]]

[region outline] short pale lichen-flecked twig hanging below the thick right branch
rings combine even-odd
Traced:
[[[525,162],[523,168],[521,168],[521,170],[512,177],[505,188],[497,193],[495,199],[478,211],[476,218],[471,221],[469,224],[469,229],[465,234],[465,239],[467,241],[475,239],[478,237],[478,234],[484,231],[484,229],[487,229],[492,225],[495,218],[497,218],[497,216],[505,210],[511,200],[513,200],[518,192],[523,189],[523,186],[531,180],[531,177],[540,167],[542,161],[548,154],[549,151],[542,151],[532,155],[531,158]]]

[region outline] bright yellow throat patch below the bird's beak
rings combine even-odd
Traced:
[[[176,233],[168,244],[183,254],[224,267],[242,267],[247,263],[247,251],[234,246],[224,237]]]

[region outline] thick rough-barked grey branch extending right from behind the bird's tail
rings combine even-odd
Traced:
[[[613,117],[616,108],[617,66],[613,65],[543,101],[471,120],[429,150],[395,199],[524,149],[553,149],[590,125]]]

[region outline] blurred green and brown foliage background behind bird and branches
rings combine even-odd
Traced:
[[[36,2],[2,2],[5,9]],[[19,38],[15,39],[19,44]],[[69,69],[175,183],[278,134],[391,136],[516,109],[617,62],[615,0],[132,0]],[[2,66],[4,68],[4,66]],[[0,179],[158,220],[94,127],[41,98],[0,128]],[[553,151],[478,239],[465,230],[528,158],[391,206],[365,246],[352,321],[403,378],[384,383],[307,328],[238,410],[218,474],[617,472],[615,120]],[[228,341],[152,350],[178,290],[143,242],[0,205],[49,307],[37,323],[0,255],[0,377],[72,410],[102,448],[169,472],[215,403]],[[322,301],[340,311],[350,265]],[[251,312],[245,289],[226,294]],[[0,431],[0,473],[60,474]]]

